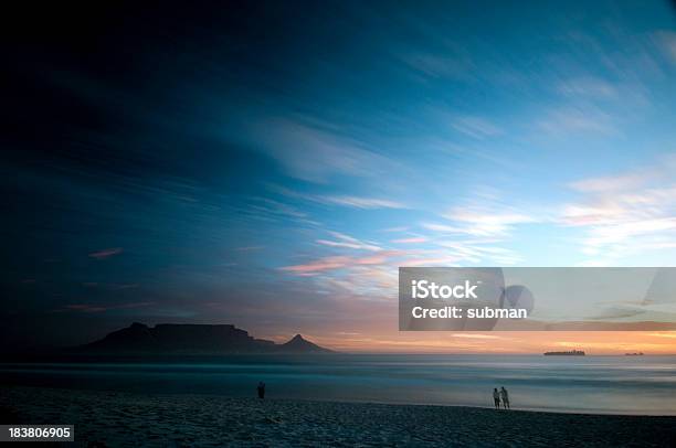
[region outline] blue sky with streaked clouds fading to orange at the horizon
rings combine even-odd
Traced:
[[[397,330],[399,266],[676,265],[673,3],[86,8],[19,12],[3,44],[7,346],[141,321],[676,352]]]

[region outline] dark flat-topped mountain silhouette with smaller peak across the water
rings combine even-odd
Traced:
[[[113,331],[98,341],[77,348],[87,353],[330,353],[300,334],[276,344],[255,339],[232,324],[158,323],[148,327],[135,322]]]

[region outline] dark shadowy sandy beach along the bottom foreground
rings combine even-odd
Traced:
[[[676,418],[38,387],[0,393],[3,419],[74,424],[78,446],[667,447]],[[104,446],[104,445],[98,445]]]

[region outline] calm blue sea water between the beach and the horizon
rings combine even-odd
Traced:
[[[144,393],[676,415],[676,356],[339,354],[201,362],[0,364],[2,384]]]

